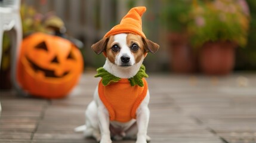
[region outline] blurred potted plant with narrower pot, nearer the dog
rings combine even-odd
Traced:
[[[196,71],[196,59],[189,44],[187,24],[191,8],[190,0],[163,1],[161,20],[166,27],[171,69],[176,73]]]

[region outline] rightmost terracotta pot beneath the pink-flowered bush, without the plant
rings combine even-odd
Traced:
[[[229,74],[235,64],[236,44],[230,41],[206,42],[203,44],[199,64],[205,74]]]

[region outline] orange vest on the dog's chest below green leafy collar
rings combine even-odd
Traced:
[[[131,86],[128,79],[103,86],[102,79],[98,83],[98,95],[107,110],[110,120],[128,122],[136,119],[136,111],[147,95],[147,81],[143,78],[144,86]]]

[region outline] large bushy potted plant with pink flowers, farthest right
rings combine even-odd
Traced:
[[[230,73],[236,46],[246,45],[249,14],[236,0],[194,0],[191,14],[189,32],[192,45],[199,49],[201,70],[206,74]]]

